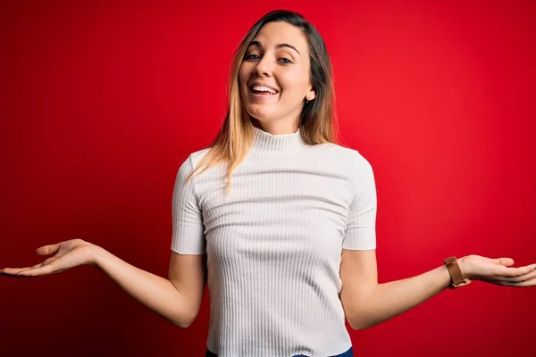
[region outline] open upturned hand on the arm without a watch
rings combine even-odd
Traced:
[[[95,263],[95,248],[82,239],[71,239],[55,245],[44,245],[38,248],[38,255],[54,256],[26,268],[4,268],[0,270],[0,275],[13,277],[40,277],[49,274],[61,273],[63,270],[68,270],[83,264]]]

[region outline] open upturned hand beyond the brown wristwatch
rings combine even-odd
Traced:
[[[503,286],[536,286],[536,264],[511,268],[514,265],[512,258],[491,259],[474,254],[458,261],[465,278]]]

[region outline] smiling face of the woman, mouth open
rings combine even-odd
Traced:
[[[287,22],[269,22],[257,33],[239,70],[247,113],[262,125],[297,123],[305,100],[314,99],[306,36]]]

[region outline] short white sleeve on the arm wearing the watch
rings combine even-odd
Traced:
[[[355,195],[348,212],[343,249],[376,249],[377,197],[373,167],[361,154],[353,152],[350,161]]]

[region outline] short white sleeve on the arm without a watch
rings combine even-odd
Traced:
[[[197,204],[194,180],[186,178],[193,170],[191,155],[182,162],[172,198],[172,251],[181,254],[205,253],[203,215]]]

